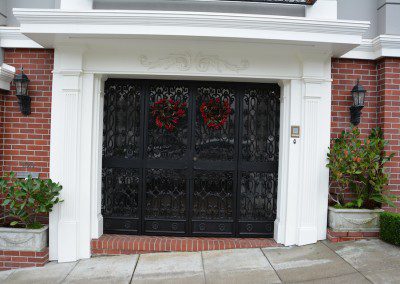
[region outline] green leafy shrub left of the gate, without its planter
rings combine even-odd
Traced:
[[[62,202],[59,198],[61,189],[62,186],[51,179],[31,176],[19,179],[14,173],[0,179],[0,192],[4,198],[3,224],[31,229],[43,227],[37,217],[51,212],[54,205]]]

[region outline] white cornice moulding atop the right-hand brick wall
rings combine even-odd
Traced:
[[[380,35],[363,43],[342,58],[376,60],[381,57],[400,57],[400,36]]]

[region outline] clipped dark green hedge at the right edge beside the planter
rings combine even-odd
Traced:
[[[400,214],[382,212],[380,216],[381,239],[400,246]]]

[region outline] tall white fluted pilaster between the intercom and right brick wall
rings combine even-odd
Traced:
[[[324,59],[325,58],[325,59]],[[298,180],[298,245],[325,239],[329,173],[331,82],[326,55],[303,56],[301,174]],[[329,61],[329,63],[327,62]]]

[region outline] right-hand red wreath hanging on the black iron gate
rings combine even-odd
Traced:
[[[208,128],[220,129],[232,112],[228,101],[221,102],[219,98],[209,99],[200,106],[201,116]]]

